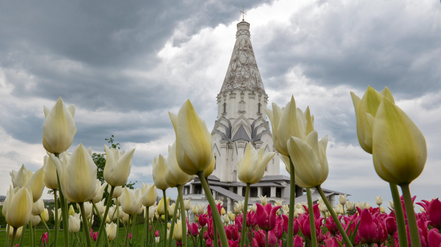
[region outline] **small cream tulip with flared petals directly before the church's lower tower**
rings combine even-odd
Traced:
[[[262,179],[268,163],[275,155],[275,152],[269,152],[265,155],[264,152],[264,148],[260,148],[257,152],[251,142],[248,142],[245,155],[236,164],[240,181],[246,184],[255,184]]]

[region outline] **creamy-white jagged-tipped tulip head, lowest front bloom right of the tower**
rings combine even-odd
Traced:
[[[302,188],[314,188],[328,177],[329,167],[326,158],[328,136],[318,141],[316,130],[308,134],[305,141],[290,137],[288,150],[295,167],[295,183]]]

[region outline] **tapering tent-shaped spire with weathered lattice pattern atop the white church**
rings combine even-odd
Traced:
[[[249,88],[252,91],[265,93],[264,84],[254,58],[253,47],[251,46],[250,24],[246,21],[240,21],[237,24],[236,43],[220,93],[235,88],[241,90]]]

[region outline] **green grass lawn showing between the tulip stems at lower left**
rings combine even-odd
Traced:
[[[153,228],[154,228],[154,224],[153,224]],[[159,228],[159,229],[157,229],[157,230],[159,230],[159,233],[161,234],[160,236],[162,236],[162,233],[163,233],[163,231],[164,231],[164,224],[161,224],[161,225],[157,225],[157,228]],[[94,232],[97,232],[98,231],[98,228],[96,228],[96,229],[94,229]],[[143,237],[143,231],[144,231],[144,224],[139,224],[138,226],[134,226],[134,230],[133,230],[133,232],[130,230],[129,232],[131,232],[132,233],[132,238],[133,238],[133,240],[134,240],[134,245],[136,246],[136,241],[135,240],[138,240],[139,242],[138,242],[138,246],[141,246],[141,239],[142,239],[142,237]],[[46,230],[45,230],[45,232],[46,232]],[[136,234],[137,233],[137,234]],[[23,232],[22,232],[22,234],[23,234]],[[50,231],[50,234],[51,234],[51,238],[50,238],[50,241],[52,242],[53,241],[53,236],[54,236],[54,230],[52,230],[51,229],[51,231]],[[124,243],[124,237],[125,237],[125,235],[126,235],[126,229],[124,228],[124,227],[121,227],[121,228],[119,228],[119,232],[118,232],[118,242],[119,242],[119,246],[123,246],[123,243]],[[25,242],[24,242],[24,246],[30,246],[30,240],[29,240],[29,236],[30,236],[30,234],[29,234],[29,229],[27,229],[26,230],[26,234],[25,234]],[[36,244],[35,244],[35,246],[39,246],[39,244],[40,244],[40,237],[42,236],[42,229],[37,229],[36,230]],[[69,233],[69,236],[70,236],[70,233]],[[73,236],[73,234],[72,234],[72,236]],[[82,245],[83,246],[85,246],[85,241],[86,241],[86,239],[85,239],[85,236],[84,236],[84,234],[83,234],[83,229],[80,229],[79,230],[79,232],[77,233],[77,236],[78,236],[78,238],[80,239],[80,240],[82,240]],[[150,238],[152,237],[152,236],[154,236],[154,232],[153,232],[153,230],[152,230],[152,232],[150,232]],[[137,237],[137,239],[136,239],[136,237]],[[15,244],[17,244],[18,242],[19,242],[19,238],[17,238],[16,240],[15,240]],[[64,244],[64,235],[63,235],[63,230],[62,229],[60,229],[59,231],[58,231],[58,240],[57,240],[57,247],[58,246],[64,246],[63,244]],[[132,239],[130,239],[130,240],[132,240]],[[4,246],[5,245],[5,241],[6,241],[6,231],[2,231],[2,232],[0,232],[0,246]],[[73,241],[71,240],[70,241],[70,244],[72,244],[73,243]],[[92,245],[93,244],[95,244],[95,242],[93,241],[93,239],[92,239]],[[104,244],[104,239],[100,242],[100,245],[102,245],[102,246],[105,246],[105,244]],[[79,245],[76,245],[76,246],[79,246]],[[116,245],[116,242],[115,242],[115,240],[113,240],[112,242],[111,242],[111,244],[110,244],[110,246],[118,246],[118,245]],[[131,246],[131,245],[129,245],[129,246]],[[153,239],[153,244],[151,245],[151,246],[155,246],[155,244],[154,244],[154,239]],[[172,240],[172,246],[173,247],[175,247],[176,246],[176,242],[174,241],[174,240]],[[192,246],[192,245],[191,245]]]

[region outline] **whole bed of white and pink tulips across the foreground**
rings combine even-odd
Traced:
[[[45,235],[46,246],[439,247],[440,201],[422,200],[417,204],[423,210],[415,214],[415,196],[409,189],[427,159],[422,132],[395,104],[389,89],[380,93],[368,87],[363,98],[354,93],[351,96],[360,147],[372,154],[376,173],[389,183],[393,198],[390,213],[367,203],[356,203],[354,207],[344,195],[339,196],[340,205],[332,207],[321,188],[329,173],[328,137],[318,139],[309,107],[305,111],[297,108],[294,97],[285,107],[272,103],[272,109],[265,108],[274,149],[290,173],[289,204],[276,201],[273,206],[262,197],[260,204],[248,207],[250,186],[262,179],[276,153],[256,150],[249,142],[236,164],[238,179],[247,186],[245,200],[236,203],[234,213],[225,212],[222,202],[212,196],[207,182],[215,166],[212,137],[189,100],[177,115],[169,113],[176,141],[169,146],[167,158],[159,154],[152,161],[154,184],[143,183],[142,188],[132,190],[126,184],[135,149],[120,151],[104,145],[102,184],[97,179],[91,148],[80,143],[72,153],[67,151],[76,133],[75,106],[67,107],[59,98],[51,109],[44,107],[42,141],[47,155],[43,167],[32,172],[22,166],[10,172],[12,185],[2,208],[8,223],[5,233],[9,236],[5,247],[15,246],[16,242],[22,247],[27,239],[32,247],[40,245],[35,231],[39,222],[50,231],[46,224],[49,214],[42,199],[45,187],[54,191],[56,229]],[[183,186],[195,177],[205,191],[207,208],[192,206],[190,200],[183,199]],[[307,204],[296,204],[295,185],[306,189]],[[103,198],[106,188],[109,196]],[[168,188],[177,189],[176,204],[170,205]],[[311,189],[320,194],[319,204],[313,205]],[[163,195],[158,203],[157,190]],[[380,206],[382,197],[376,201]],[[190,214],[196,223],[189,223]],[[99,229],[90,230],[96,218],[101,222]],[[140,219],[144,224],[139,224]],[[65,227],[58,235],[61,221]],[[119,223],[124,228],[118,228]],[[27,225],[33,230],[22,234]]]

